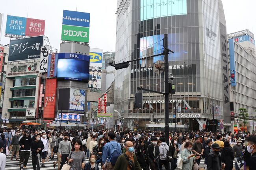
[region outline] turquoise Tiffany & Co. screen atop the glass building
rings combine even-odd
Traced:
[[[141,21],[186,14],[187,0],[141,0]]]

